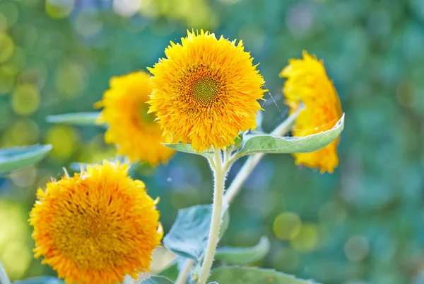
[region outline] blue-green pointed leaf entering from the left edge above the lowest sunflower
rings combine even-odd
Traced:
[[[41,161],[51,149],[50,144],[0,149],[0,174],[35,164]]]

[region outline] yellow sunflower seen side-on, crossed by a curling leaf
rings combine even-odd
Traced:
[[[306,107],[293,127],[295,137],[326,131],[336,125],[342,115],[341,103],[322,61],[303,52],[303,59],[290,59],[280,76],[287,78],[283,94],[290,113],[298,109],[300,101]],[[332,173],[338,165],[337,144],[338,139],[314,152],[295,153],[295,164],[319,168],[321,173]]]

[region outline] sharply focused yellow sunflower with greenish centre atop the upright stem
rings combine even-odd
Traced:
[[[187,33],[148,68],[154,75],[149,111],[167,142],[190,143],[199,152],[224,149],[240,131],[256,128],[264,79],[241,40],[236,45],[203,30]]]

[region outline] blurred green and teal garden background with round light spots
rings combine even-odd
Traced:
[[[324,59],[346,112],[334,174],[266,156],[222,244],[266,234],[272,249],[256,265],[325,284],[424,283],[423,0],[0,0],[0,147],[54,145],[41,164],[0,178],[11,278],[54,275],[31,251],[36,188],[72,161],[114,157],[101,128],[45,116],[93,110],[111,76],[151,67],[187,28],[245,42],[274,98],[266,93],[265,130],[287,116],[278,72],[302,50]],[[160,196],[165,230],[178,208],[211,202],[201,157],[177,154],[137,177]]]

